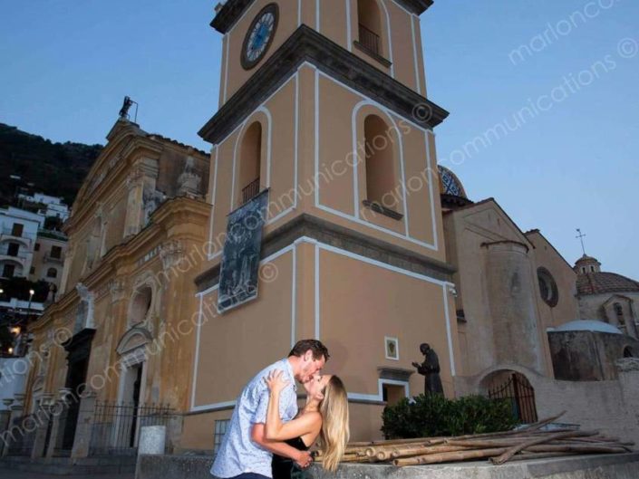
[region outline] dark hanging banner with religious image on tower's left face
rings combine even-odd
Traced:
[[[268,190],[228,215],[227,239],[219,272],[218,311],[257,298],[257,274]]]

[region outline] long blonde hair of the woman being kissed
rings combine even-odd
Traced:
[[[320,431],[320,449],[322,450],[322,466],[330,472],[337,469],[348,438],[351,435],[348,426],[348,397],[342,379],[333,376],[324,388],[324,399],[319,405],[322,414],[322,430]]]

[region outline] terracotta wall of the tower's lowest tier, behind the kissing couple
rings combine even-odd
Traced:
[[[236,310],[218,315],[217,289],[203,295],[205,319],[195,344],[191,411],[218,409],[223,416],[226,410],[230,416],[232,401],[247,381],[286,356],[292,342],[307,337],[325,342],[331,359],[324,371],[344,379],[353,401],[373,403],[356,406],[363,412],[353,416],[353,437],[380,436],[378,369],[413,370],[411,361],[421,360],[421,342],[438,352],[442,383],[446,393],[453,394],[449,350],[450,344],[458,350],[457,330],[450,318],[450,294],[442,283],[307,242],[263,264],[263,274],[265,268],[276,271],[275,280],[261,281],[257,300]],[[399,340],[399,360],[386,359],[386,336]],[[420,394],[423,378],[413,374],[409,386],[409,394]],[[202,441],[211,431],[205,434],[202,426],[187,421],[185,447],[208,448]]]

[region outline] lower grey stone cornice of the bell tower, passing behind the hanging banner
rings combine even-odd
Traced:
[[[313,238],[324,244],[331,244],[340,249],[370,257],[382,263],[402,268],[412,273],[425,274],[441,281],[451,281],[451,274],[456,272],[454,266],[430,258],[423,254],[415,253],[397,244],[390,244],[363,235],[344,226],[335,225],[316,216],[302,214],[293,220],[277,228],[265,236],[262,241],[260,257],[267,256],[286,248],[301,237]],[[198,291],[218,283],[219,264],[209,268],[208,271],[199,274],[195,278]]]

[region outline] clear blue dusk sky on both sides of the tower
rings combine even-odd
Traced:
[[[0,122],[103,144],[129,95],[142,129],[208,150],[197,132],[218,108],[214,6],[4,0]],[[639,280],[639,2],[439,0],[421,25],[428,97],[450,111],[440,162],[470,199],[495,197],[571,264],[580,227],[604,271]]]

